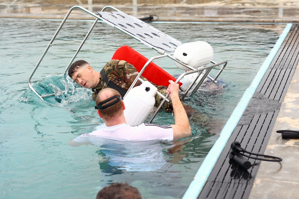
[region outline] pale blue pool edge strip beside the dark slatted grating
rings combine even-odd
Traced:
[[[205,160],[202,162],[199,170],[197,171],[196,175],[194,176],[194,180],[190,183],[187,191],[185,192],[183,199],[195,199],[198,197],[199,193],[202,191],[210,173],[212,172],[219,155],[221,154],[222,150],[224,149],[228,139],[231,136],[231,133],[234,131],[235,127],[237,126],[242,114],[244,113],[249,101],[251,100],[254,92],[256,91],[260,81],[262,80],[263,76],[265,75],[266,71],[269,68],[272,60],[274,59],[277,51],[281,47],[283,41],[285,40],[287,34],[289,33],[292,24],[289,23],[286,25],[285,29],[283,30],[282,34],[276,41],[274,47],[270,51],[269,55],[266,57],[265,61],[263,62],[260,70],[257,72],[257,75],[251,82],[251,85],[246,89],[244,92],[241,100],[237,104],[237,107],[234,109],[231,117],[228,119],[227,123],[225,124],[224,128],[222,129],[219,138],[209,151],[208,155],[206,156]]]

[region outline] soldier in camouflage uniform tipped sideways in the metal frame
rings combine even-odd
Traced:
[[[115,83],[117,86],[124,90],[128,90],[132,85],[133,81],[138,75],[136,68],[123,60],[110,60],[104,66],[104,72],[107,78]],[[107,88],[106,82],[104,81],[100,72],[94,71],[91,66],[84,60],[74,62],[68,69],[68,75],[80,86],[85,88],[91,88],[93,93],[93,99],[96,99],[97,93],[103,88]],[[141,76],[143,80],[147,80]],[[152,83],[152,82],[151,82]],[[135,86],[140,85],[141,82],[137,81]],[[158,86],[152,83],[162,95],[166,95],[167,87]],[[170,98],[168,98],[170,99]],[[158,107],[163,99],[159,95],[155,95],[155,106]],[[163,109],[165,112],[171,112],[172,104],[171,101],[165,102]]]

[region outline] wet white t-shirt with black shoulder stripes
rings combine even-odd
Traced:
[[[86,137],[98,137],[119,141],[148,141],[168,140],[173,141],[173,129],[170,125],[140,124],[131,127],[128,124],[119,124],[112,127],[104,127],[91,133],[85,133],[75,138],[74,141],[82,142]]]

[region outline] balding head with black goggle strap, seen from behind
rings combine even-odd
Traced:
[[[105,119],[118,117],[123,114],[123,101],[120,93],[112,88],[100,90],[97,94],[96,105],[100,116]]]

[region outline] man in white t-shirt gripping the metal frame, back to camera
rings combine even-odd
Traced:
[[[79,137],[68,142],[71,146],[86,144],[86,138],[104,138],[119,141],[148,141],[148,140],[180,140],[191,136],[191,127],[186,111],[179,98],[179,84],[169,80],[167,93],[172,103],[175,124],[156,125],[140,124],[131,127],[126,124],[123,114],[125,104],[122,101],[120,93],[111,88],[101,90],[96,99],[97,113],[106,124],[106,127],[93,131],[88,134],[82,134]]]

